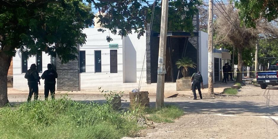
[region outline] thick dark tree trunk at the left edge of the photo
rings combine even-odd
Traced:
[[[9,103],[7,75],[12,61],[12,56],[7,56],[4,52],[0,52],[0,107]]]

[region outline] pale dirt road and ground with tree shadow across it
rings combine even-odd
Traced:
[[[26,95],[8,97],[12,103],[21,103],[27,99]],[[102,96],[70,95],[69,97],[85,103],[105,102]],[[153,128],[140,131],[136,139],[278,138],[277,87],[261,89],[254,85],[246,85],[239,89],[235,96],[203,94],[203,98],[205,99],[193,100],[193,96],[165,98],[164,104],[180,106],[185,115],[176,119],[174,123],[154,123]],[[127,96],[122,97],[123,107],[128,107],[128,102]],[[150,105],[155,106],[154,97],[150,98]]]

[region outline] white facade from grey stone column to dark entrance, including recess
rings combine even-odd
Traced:
[[[81,90],[97,90],[98,87],[102,87],[104,90],[130,91],[138,88],[146,50],[146,35],[138,39],[137,33],[133,33],[122,39],[121,36],[110,33],[113,41],[107,42],[108,31],[101,33],[95,28],[86,28],[84,33],[87,35],[87,42],[80,47],[80,51],[85,51],[86,54],[86,72],[80,73]],[[109,44],[115,43],[119,45],[117,49],[118,73],[110,73]],[[94,71],[94,51],[96,50],[101,50],[101,73]],[[151,87],[154,85],[147,86],[146,84],[146,64],[143,70],[141,89],[150,87],[155,90]]]

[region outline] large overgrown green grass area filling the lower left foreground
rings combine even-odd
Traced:
[[[117,139],[133,137],[136,118],[113,111],[109,104],[72,100],[35,101],[0,109],[0,138]]]

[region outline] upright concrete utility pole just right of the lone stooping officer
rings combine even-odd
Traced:
[[[208,3],[208,94],[213,91],[213,0]]]

